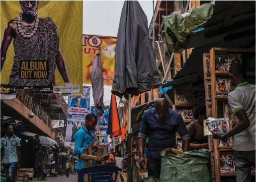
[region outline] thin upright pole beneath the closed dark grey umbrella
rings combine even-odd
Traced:
[[[128,182],[132,182],[132,134],[131,134],[132,95],[128,100]]]

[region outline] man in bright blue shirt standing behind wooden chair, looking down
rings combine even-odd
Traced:
[[[89,144],[93,144],[93,136],[90,131],[94,130],[97,125],[98,119],[94,114],[87,114],[85,117],[85,124],[75,134],[75,154],[78,155],[78,163],[76,170],[78,173],[84,168],[84,160],[80,159],[80,155],[83,154],[83,149],[87,148]],[[93,149],[97,149],[97,145],[92,146]]]

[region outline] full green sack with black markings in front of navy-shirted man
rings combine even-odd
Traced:
[[[209,150],[162,153],[160,182],[210,182]]]

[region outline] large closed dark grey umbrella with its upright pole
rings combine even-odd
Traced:
[[[148,19],[138,1],[125,1],[116,48],[112,94],[128,96],[128,182],[131,182],[131,97],[157,88],[162,81],[149,38]]]

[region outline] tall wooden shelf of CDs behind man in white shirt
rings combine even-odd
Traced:
[[[238,122],[227,102],[228,94],[234,90],[229,79],[229,66],[233,62],[242,63],[247,81],[255,84],[255,49],[212,48],[209,53],[203,54],[206,112],[207,118],[212,117],[204,125],[208,129],[217,128],[219,133],[228,132]],[[233,138],[227,141],[214,140],[207,129],[204,134],[209,135],[211,176],[215,182],[221,182],[224,176],[236,176]],[[255,168],[252,174],[255,175]]]

